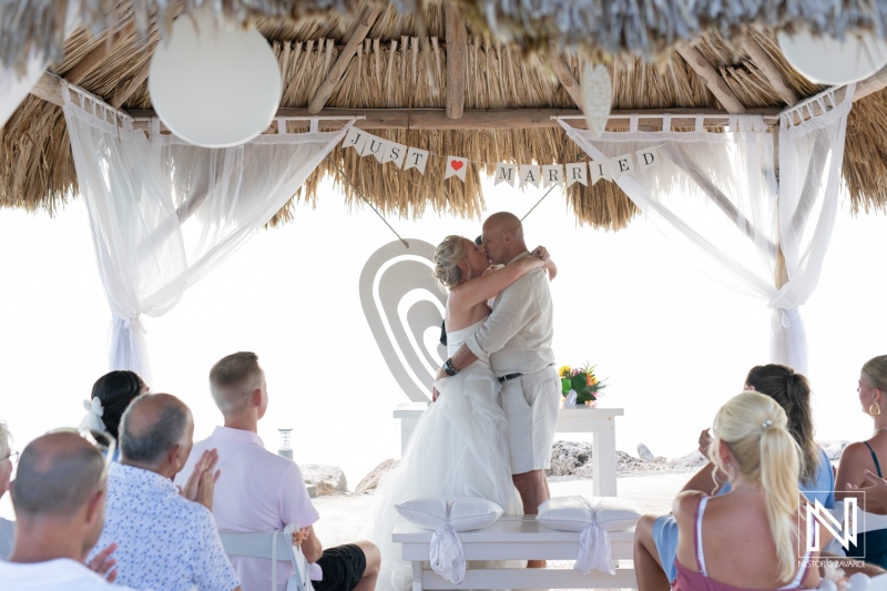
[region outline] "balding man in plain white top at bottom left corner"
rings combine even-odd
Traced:
[[[24,448],[12,483],[18,528],[9,562],[0,561],[2,589],[126,589],[82,562],[102,531],[104,467],[102,454],[73,432],[44,435]],[[110,567],[108,553],[99,560]]]

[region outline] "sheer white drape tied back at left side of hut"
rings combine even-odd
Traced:
[[[63,86],[80,194],[113,314],[111,369],[145,380],[141,316],[162,316],[184,291],[254,236],[344,137],[336,132],[261,135],[211,150],[134,130],[88,93]],[[75,95],[74,98],[72,98]]]

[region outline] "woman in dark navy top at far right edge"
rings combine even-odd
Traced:
[[[875,430],[871,437],[850,444],[840,455],[835,488],[839,500],[856,496],[853,491],[868,482],[866,471],[878,477],[887,473],[887,355],[866,361],[856,391],[863,412],[871,416]],[[858,532],[847,556],[887,568],[887,520],[868,516],[865,523],[867,531]]]

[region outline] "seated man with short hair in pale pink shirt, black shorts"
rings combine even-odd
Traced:
[[[319,516],[308,498],[302,471],[293,460],[265,449],[257,435],[258,421],[268,406],[265,373],[254,353],[235,353],[216,363],[210,371],[210,391],[225,424],[194,445],[194,454],[218,450],[222,476],[215,486],[213,514],[220,531],[247,532],[299,528],[302,550],[310,562],[316,591],[373,591],[379,572],[379,551],[371,542],[358,541],[323,550],[313,523]],[[188,460],[176,482],[192,471]],[[271,561],[232,557],[246,591],[271,587]],[[281,590],[293,574],[288,562],[277,563]]]

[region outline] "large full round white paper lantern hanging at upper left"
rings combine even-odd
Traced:
[[[151,59],[151,103],[164,125],[194,145],[227,147],[265,131],[281,102],[281,68],[253,28],[208,10],[180,17]]]

